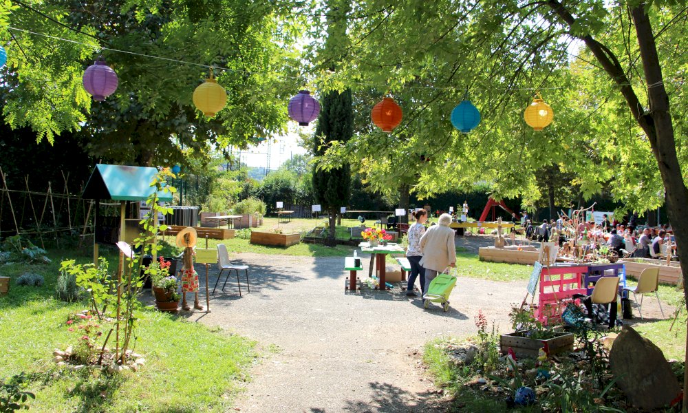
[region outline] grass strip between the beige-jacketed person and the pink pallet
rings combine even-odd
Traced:
[[[480,261],[475,253],[457,253],[456,266],[460,276],[499,282],[528,279],[533,272],[533,266],[530,265]]]

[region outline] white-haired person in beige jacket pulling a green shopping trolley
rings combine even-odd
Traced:
[[[451,215],[440,215],[439,225],[433,225],[420,237],[420,251],[423,254],[420,265],[425,268],[425,293],[428,292],[430,282],[437,277],[437,273],[444,268],[456,266],[456,248],[454,246],[454,230],[449,228]]]

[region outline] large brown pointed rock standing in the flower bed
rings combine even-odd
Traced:
[[[614,340],[609,362],[616,383],[636,407],[654,411],[681,392],[662,350],[629,326]]]

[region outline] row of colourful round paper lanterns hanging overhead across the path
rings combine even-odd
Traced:
[[[6,63],[7,52],[4,47],[0,46],[0,67]],[[98,102],[113,94],[118,83],[116,72],[103,59],[95,61],[93,65],[87,67],[83,74],[84,89]],[[475,129],[481,120],[480,111],[466,97],[464,96],[464,100],[451,111],[451,125],[462,134],[468,134]],[[225,107],[226,103],[227,92],[215,80],[211,67],[210,77],[206,78],[204,83],[198,85],[193,91],[193,104],[203,112],[204,116],[213,117]],[[308,90],[300,90],[296,96],[289,100],[287,112],[289,117],[297,121],[299,125],[308,126],[309,123],[318,118],[320,103],[310,95]],[[403,112],[394,99],[385,97],[373,107],[370,115],[377,127],[390,134],[401,124]],[[526,124],[535,131],[541,131],[550,125],[553,119],[552,107],[545,103],[542,96],[537,92],[533,103],[530,103],[524,112]]]

